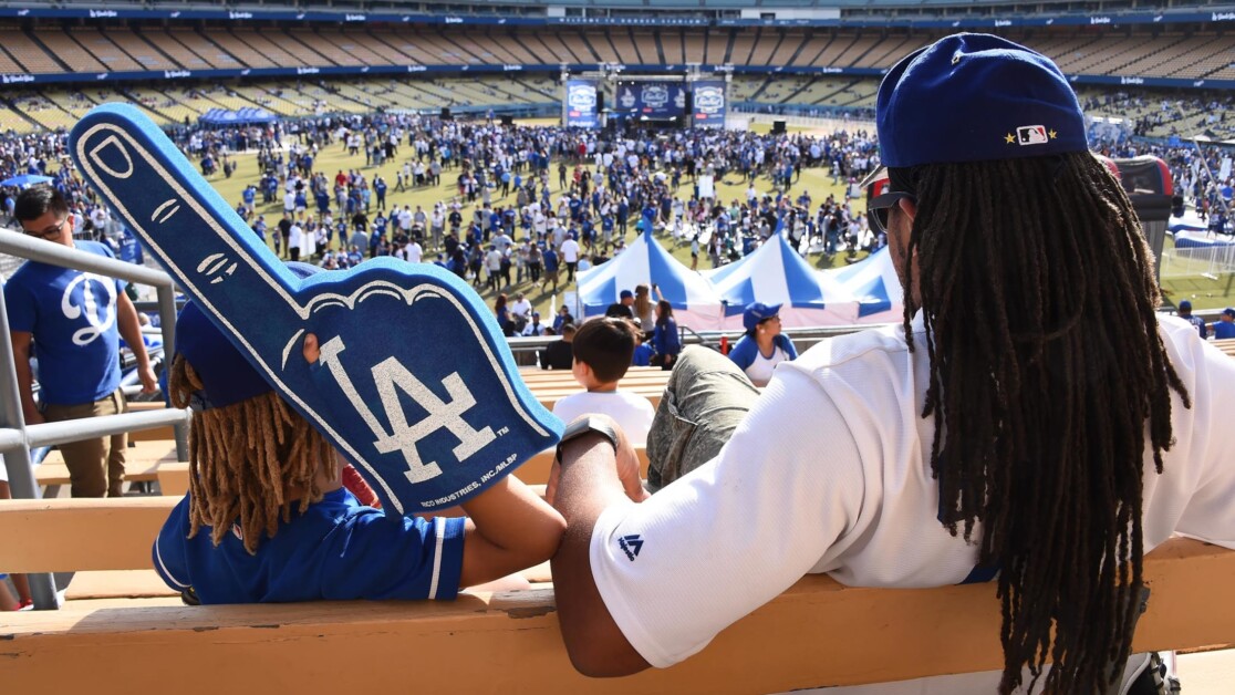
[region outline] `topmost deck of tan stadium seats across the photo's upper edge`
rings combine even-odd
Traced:
[[[1235,15],[1233,15],[1235,16]],[[1230,25],[1235,27],[1235,25]],[[1235,88],[1235,31],[1223,22],[1155,27],[1000,27],[1079,84]],[[5,84],[165,78],[551,72],[621,65],[874,77],[941,30],[519,26],[385,22],[0,20]]]

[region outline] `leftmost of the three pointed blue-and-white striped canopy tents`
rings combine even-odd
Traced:
[[[621,290],[634,290],[640,283],[659,286],[661,294],[673,305],[673,317],[679,326],[695,331],[720,328],[720,298],[708,280],[669,256],[648,235],[638,235],[626,251],[608,263],[579,273],[579,311],[584,317],[603,315],[618,301]]]

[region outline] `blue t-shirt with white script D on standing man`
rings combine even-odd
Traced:
[[[78,251],[115,258],[91,241]],[[27,260],[5,284],[9,330],[33,333],[44,404],[78,405],[120,386],[116,306],[126,283]]]

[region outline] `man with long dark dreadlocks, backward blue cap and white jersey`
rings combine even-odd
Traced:
[[[1235,547],[1235,360],[1155,314],[1140,223],[1047,58],[942,38],[888,73],[877,121],[890,186],[872,217],[903,325],[778,365],[715,458],[651,496],[620,432],[563,437],[550,494],[571,658],[590,675],[668,667],[826,572],[992,580],[1002,673],[897,691],[1152,688],[1149,657],[1129,659],[1144,553],[1172,533]]]

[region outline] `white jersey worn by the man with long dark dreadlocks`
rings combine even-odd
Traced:
[[[1192,407],[1172,399],[1165,473],[1146,463],[1145,552],[1173,533],[1235,548],[1235,430],[1226,423],[1235,360],[1183,321],[1160,318],[1160,335]],[[934,418],[920,417],[925,336],[915,343],[910,353],[898,326],[815,346],[777,369],[716,459],[600,516],[590,547],[597,588],[648,663],[690,657],[808,573],[851,586],[966,579],[977,547],[936,521]],[[631,535],[643,541],[634,562],[619,546]],[[931,691],[993,693],[997,684],[993,674],[972,690]]]

